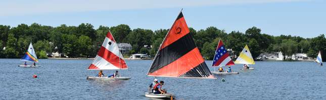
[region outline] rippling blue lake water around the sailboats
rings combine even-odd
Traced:
[[[154,79],[146,75],[152,60],[126,60],[129,69],[120,73],[132,78],[124,81],[87,80],[98,73],[86,70],[92,60],[39,62],[41,67],[25,68],[18,67],[19,59],[0,59],[0,99],[151,99],[144,92]],[[158,79],[176,99],[326,99],[326,68],[314,62],[257,61],[255,70],[240,70],[241,64],[232,68],[240,74]]]

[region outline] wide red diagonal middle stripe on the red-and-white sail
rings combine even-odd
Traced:
[[[121,69],[127,68],[126,63],[124,62],[123,59],[119,58],[118,56],[116,56],[115,54],[113,54],[111,51],[107,50],[104,47],[100,48],[98,56],[102,57],[103,59],[113,64],[117,68],[121,68]],[[120,59],[120,63],[119,63],[119,59]]]

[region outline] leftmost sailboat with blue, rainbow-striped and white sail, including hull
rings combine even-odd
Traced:
[[[32,45],[32,42],[29,44],[27,52],[25,53],[25,55],[20,59],[22,61],[28,61],[28,62],[38,62],[36,53],[34,51],[34,47]],[[20,67],[39,67],[39,65],[18,65]]]

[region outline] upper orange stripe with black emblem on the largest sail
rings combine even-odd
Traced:
[[[188,29],[187,23],[185,23],[185,20],[182,16],[181,18],[175,21],[166,36],[167,38],[165,38],[164,42],[162,43],[160,49],[163,49],[169,46],[170,44],[174,43],[175,41],[178,41],[180,38],[184,37],[185,35],[188,35],[189,32],[190,31]]]

